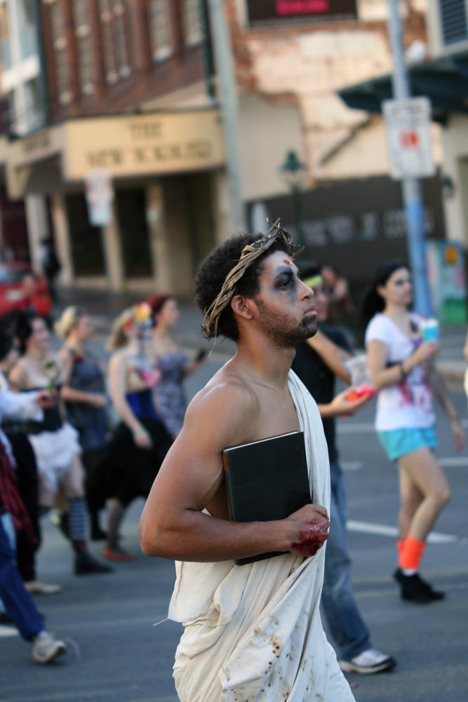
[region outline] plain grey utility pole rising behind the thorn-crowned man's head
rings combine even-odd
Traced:
[[[238,92],[235,81],[233,55],[230,50],[230,34],[226,21],[223,0],[208,0],[209,18],[212,29],[212,44],[216,62],[216,74],[221,93],[221,112],[223,114],[224,135],[226,140],[227,168],[229,179],[232,222],[236,231],[245,231],[245,210],[240,191],[240,166],[238,143]]]

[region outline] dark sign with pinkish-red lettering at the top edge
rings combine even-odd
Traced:
[[[247,0],[247,13],[251,27],[357,17],[356,0]]]

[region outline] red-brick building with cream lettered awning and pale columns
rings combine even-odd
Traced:
[[[47,126],[3,145],[8,193],[36,230],[32,260],[53,234],[65,284],[190,293],[228,218],[202,4],[36,6]],[[94,176],[112,196],[99,221],[86,198]]]

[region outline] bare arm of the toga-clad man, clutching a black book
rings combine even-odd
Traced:
[[[195,397],[141,516],[146,555],[215,562],[294,550],[307,524],[326,516],[316,505],[277,522],[228,522],[202,512],[223,482],[222,449],[254,438],[257,412],[253,394],[235,383]]]

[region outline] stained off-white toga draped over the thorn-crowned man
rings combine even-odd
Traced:
[[[291,371],[313,502],[330,510],[330,470],[316,403]],[[354,702],[320,619],[325,546],[235,566],[176,562],[169,618],[185,630],[174,680],[181,702]]]

